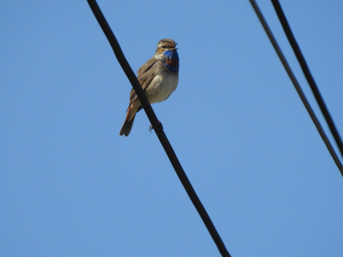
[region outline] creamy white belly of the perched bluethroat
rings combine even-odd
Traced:
[[[167,72],[157,74],[146,88],[146,96],[150,103],[166,100],[176,90],[179,75]]]

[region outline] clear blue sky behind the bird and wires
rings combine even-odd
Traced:
[[[135,72],[179,43],[153,108],[229,253],[342,256],[342,176],[250,3],[98,4]],[[343,2],[281,5],[343,134]],[[219,256],[145,113],[119,136],[131,85],[87,2],[1,1],[0,31],[0,255]]]

